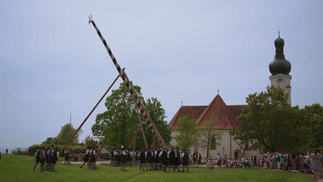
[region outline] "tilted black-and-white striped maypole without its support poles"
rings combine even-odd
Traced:
[[[135,89],[133,88],[133,85],[130,83],[130,80],[128,79],[128,77],[126,77],[126,73],[121,70],[119,63],[117,63],[117,59],[115,59],[115,56],[112,54],[112,51],[110,50],[108,43],[106,43],[106,40],[104,39],[104,37],[102,36],[99,28],[97,28],[97,25],[95,24],[95,22],[92,20],[92,16],[90,15],[89,21],[88,23],[92,23],[92,25],[94,26],[95,30],[97,30],[97,34],[99,34],[99,37],[102,41],[102,43],[104,43],[104,46],[106,48],[106,50],[108,51],[112,62],[115,64],[115,68],[117,68],[117,71],[119,72],[119,76],[126,82],[126,87],[128,88],[128,92],[130,92],[130,94],[133,95],[134,99],[135,99],[135,104],[137,105],[137,107],[139,108],[139,111],[144,114],[144,120],[146,121],[146,123],[148,123],[148,126],[151,130],[151,132],[156,133],[157,137],[159,139],[159,143],[161,143],[161,145],[163,145],[164,147],[166,147],[166,144],[164,142],[164,139],[161,138],[161,135],[159,134],[157,128],[155,127],[155,124],[153,123],[153,121],[151,120],[144,104],[141,102],[141,100],[139,99],[139,96],[137,94],[137,92],[135,91]]]

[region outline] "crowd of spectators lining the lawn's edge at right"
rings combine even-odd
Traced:
[[[295,170],[313,173],[316,178],[322,178],[323,156],[320,150],[293,154],[261,154],[260,156],[242,156],[230,159],[227,155],[209,156],[205,159],[210,168],[257,168],[262,170]]]

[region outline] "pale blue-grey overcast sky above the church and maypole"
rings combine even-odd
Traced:
[[[323,104],[323,1],[0,1],[0,148],[77,128],[121,68],[157,97],[167,121],[181,105],[227,105],[269,85],[278,28],[291,62],[292,105]],[[119,87],[121,79],[114,86]],[[82,130],[91,134],[101,103]]]

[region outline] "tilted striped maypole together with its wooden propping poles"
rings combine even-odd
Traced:
[[[102,142],[102,145],[99,148],[99,151],[97,152],[97,156],[99,156],[99,153],[101,152],[101,149],[102,149],[104,143],[106,143],[106,138],[108,137],[108,135],[110,133],[110,129],[112,128],[112,124],[115,122],[115,119],[117,118],[117,114],[119,113],[119,110],[121,108],[121,104],[124,101],[124,97],[126,96],[127,91],[131,94],[131,96],[133,97],[133,99],[135,101],[136,110],[137,110],[137,116],[138,116],[138,119],[139,119],[139,128],[137,129],[137,132],[134,133],[133,140],[131,141],[130,145],[132,145],[135,142],[135,137],[137,136],[137,133],[139,132],[139,130],[141,130],[142,136],[144,138],[145,147],[148,148],[147,141],[146,141],[146,137],[145,137],[145,134],[144,134],[144,129],[142,127],[141,117],[140,117],[140,114],[139,114],[139,112],[140,112],[141,114],[144,115],[144,121],[146,121],[146,123],[149,125],[149,128],[150,128],[151,132],[154,135],[152,147],[155,146],[155,139],[157,139],[159,141],[159,144],[162,147],[166,147],[166,144],[164,142],[164,139],[159,134],[159,131],[157,130],[155,124],[153,123],[153,120],[150,118],[150,115],[149,115],[148,111],[146,110],[146,108],[145,108],[144,104],[142,103],[141,99],[139,98],[138,93],[133,88],[132,81],[130,81],[130,79],[128,78],[128,76],[127,76],[126,72],[124,71],[124,69],[121,70],[119,64],[117,63],[117,60],[115,59],[115,56],[112,54],[112,52],[111,52],[108,44],[106,43],[106,40],[104,39],[104,37],[102,36],[101,32],[99,31],[99,29],[95,25],[95,22],[92,20],[92,16],[90,16],[89,19],[90,19],[89,23],[92,23],[92,25],[94,26],[95,30],[97,30],[97,34],[99,34],[99,37],[100,37],[102,43],[104,43],[104,46],[106,47],[106,50],[108,51],[108,54],[110,55],[110,57],[112,59],[112,62],[115,64],[115,68],[117,68],[117,71],[119,72],[119,75],[117,76],[117,78],[115,79],[115,81],[112,82],[112,84],[110,85],[110,87],[108,88],[108,90],[106,90],[106,92],[101,97],[101,99],[99,99],[99,101],[97,102],[97,104],[95,105],[95,107],[90,111],[90,113],[88,114],[88,116],[86,117],[86,119],[84,119],[84,121],[81,123],[81,125],[79,125],[79,128],[77,128],[77,130],[75,130],[74,134],[70,137],[70,139],[68,139],[68,141],[66,142],[66,144],[61,149],[60,153],[63,152],[63,150],[70,143],[70,141],[72,141],[72,139],[74,139],[75,135],[77,134],[77,132],[79,132],[79,130],[81,129],[82,125],[84,125],[84,123],[88,120],[88,118],[90,117],[90,115],[92,114],[92,112],[95,110],[95,108],[97,108],[97,105],[99,105],[99,103],[102,101],[102,99],[104,99],[104,97],[106,97],[106,94],[112,88],[112,85],[115,84],[115,82],[117,81],[117,79],[119,79],[119,77],[121,77],[121,79],[126,83],[127,90],[125,90],[125,92],[124,92],[124,95],[122,97],[121,103],[119,104],[119,107],[117,108],[117,111],[115,113],[115,116],[114,116],[113,120],[110,123],[110,127],[108,126],[106,136],[104,137],[104,140]],[[130,145],[129,145],[129,147],[130,147]]]

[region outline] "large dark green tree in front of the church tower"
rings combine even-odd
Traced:
[[[234,139],[250,142],[251,148],[264,152],[291,151],[295,147],[295,108],[286,104],[288,94],[280,88],[249,94],[248,105],[237,117]]]

